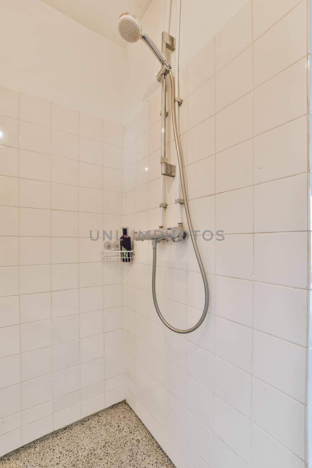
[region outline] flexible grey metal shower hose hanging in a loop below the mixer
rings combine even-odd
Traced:
[[[182,195],[183,195],[183,200],[184,200],[185,214],[186,214],[186,219],[188,221],[189,234],[190,234],[191,239],[192,239],[192,244],[193,244],[193,248],[194,248],[194,251],[195,251],[196,258],[197,258],[198,266],[199,266],[200,272],[202,274],[203,286],[204,286],[204,290],[205,290],[205,304],[204,304],[204,307],[203,307],[203,313],[202,313],[200,319],[198,320],[198,322],[195,325],[193,325],[193,327],[185,329],[185,330],[181,330],[181,329],[173,327],[172,325],[170,325],[170,323],[167,322],[167,320],[161,314],[160,308],[159,308],[158,303],[157,303],[156,285],[155,285],[155,281],[156,281],[156,256],[157,256],[157,254],[156,254],[157,241],[156,240],[152,240],[152,248],[153,248],[152,296],[153,296],[153,301],[154,301],[154,306],[155,306],[156,312],[157,312],[161,322],[163,322],[168,329],[170,329],[170,330],[172,330],[172,331],[174,331],[176,333],[191,333],[192,331],[194,331],[198,327],[200,327],[200,325],[203,323],[203,321],[205,319],[205,316],[207,315],[208,306],[209,306],[209,288],[208,288],[208,282],[207,282],[205,270],[203,268],[203,262],[202,262],[202,259],[201,259],[201,256],[200,256],[200,253],[199,253],[199,250],[198,250],[198,246],[197,246],[197,243],[196,243],[196,238],[195,238],[195,235],[194,235],[194,232],[193,232],[193,225],[192,225],[191,217],[190,217],[190,214],[189,214],[189,203],[188,203],[188,198],[187,198],[187,195],[186,195],[180,141],[179,141],[179,136],[178,136],[178,132],[177,132],[177,118],[176,118],[176,111],[175,111],[175,96],[174,96],[174,89],[175,89],[175,87],[174,87],[174,75],[173,75],[171,69],[169,70],[168,74],[169,74],[170,83],[171,83],[172,126],[173,126],[173,131],[174,131],[174,142],[175,142],[176,152],[177,152],[178,161],[179,161],[179,170],[180,170],[180,177],[181,177],[181,187],[182,187]]]

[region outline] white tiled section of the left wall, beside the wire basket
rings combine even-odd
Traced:
[[[0,455],[124,398],[122,192],[121,125],[0,88]]]

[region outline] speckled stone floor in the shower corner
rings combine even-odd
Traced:
[[[126,402],[0,458],[1,468],[174,468]]]

